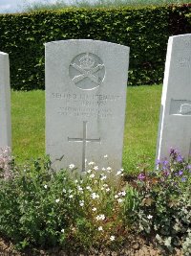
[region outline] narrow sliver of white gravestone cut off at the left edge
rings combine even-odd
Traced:
[[[11,147],[11,88],[9,55],[0,52],[0,149]]]

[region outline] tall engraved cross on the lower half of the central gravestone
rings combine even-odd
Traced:
[[[100,138],[99,139],[88,139],[87,138],[87,121],[83,121],[83,138],[69,138],[69,142],[82,142],[83,147],[82,147],[82,172],[85,172],[85,162],[86,162],[86,143],[87,142],[98,142],[100,143]]]

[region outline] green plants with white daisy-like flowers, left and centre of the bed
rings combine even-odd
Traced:
[[[111,168],[97,173],[90,162],[82,178],[73,164],[55,172],[49,158],[16,166],[1,155],[1,173],[7,174],[1,163],[11,175],[0,179],[0,233],[18,249],[60,246],[76,251],[124,240],[128,227],[120,219],[125,194],[121,185],[114,186]]]

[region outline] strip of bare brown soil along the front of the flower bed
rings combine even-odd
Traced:
[[[111,251],[106,248],[92,249],[90,252],[71,252],[68,253],[63,249],[55,247],[51,250],[33,250],[19,253],[12,250],[12,245],[5,243],[0,239],[0,256],[183,256],[180,250],[176,250],[173,254],[169,255],[160,252],[159,249],[154,248],[153,245],[141,244],[138,241],[124,245],[118,251]]]

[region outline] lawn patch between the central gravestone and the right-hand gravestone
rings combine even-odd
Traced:
[[[127,90],[123,167],[138,171],[138,164],[154,167],[159,126],[161,85],[129,87]]]

